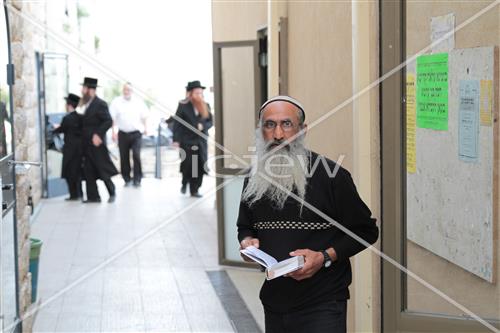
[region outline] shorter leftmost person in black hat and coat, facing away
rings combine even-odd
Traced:
[[[67,115],[54,133],[64,134],[63,161],[61,178],[68,184],[68,201],[82,198],[82,115],[75,111],[80,97],[69,94],[65,97]]]

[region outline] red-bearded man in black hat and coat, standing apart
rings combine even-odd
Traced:
[[[186,193],[187,185],[192,197],[199,198],[198,192],[203,175],[206,173],[205,162],[208,159],[207,135],[213,125],[210,105],[203,99],[204,86],[200,81],[191,81],[186,87],[187,98],[179,102],[176,121],[174,122],[174,143],[186,154],[181,161],[181,192]],[[190,126],[186,126],[186,123]]]

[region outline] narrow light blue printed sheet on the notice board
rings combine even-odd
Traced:
[[[461,80],[458,102],[458,155],[477,161],[479,152],[479,81]]]

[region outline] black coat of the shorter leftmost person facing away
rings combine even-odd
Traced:
[[[54,130],[54,133],[64,134],[61,177],[67,180],[82,177],[82,120],[83,116],[73,111],[65,115],[61,126]]]

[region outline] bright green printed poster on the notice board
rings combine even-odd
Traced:
[[[417,58],[417,126],[448,130],[448,53]]]

